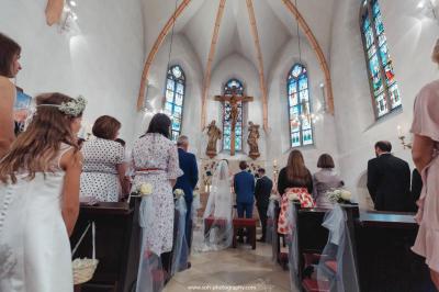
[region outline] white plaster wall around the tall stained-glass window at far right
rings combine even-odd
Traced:
[[[380,1],[389,49],[403,99],[403,110],[375,121],[360,35],[360,1],[338,0],[333,26],[330,71],[333,78],[337,142],[341,176],[362,206],[370,203],[365,170],[374,156],[373,145],[389,139],[394,154],[410,165],[410,153],[397,139],[396,126],[409,131],[416,93],[439,77],[430,61],[431,48],[439,36],[438,22],[417,10],[418,1]],[[408,134],[407,134],[408,135]],[[409,135],[408,135],[409,136]]]

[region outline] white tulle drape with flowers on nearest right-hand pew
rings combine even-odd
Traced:
[[[359,292],[346,211],[336,204],[334,210],[325,214],[322,226],[328,229],[329,235],[317,266],[318,290]]]

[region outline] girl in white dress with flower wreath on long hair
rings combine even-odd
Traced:
[[[71,292],[82,159],[76,134],[86,101],[48,93],[36,104],[0,161],[0,291]]]

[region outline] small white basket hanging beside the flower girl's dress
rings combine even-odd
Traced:
[[[90,229],[91,226],[91,240],[92,240],[92,256],[91,259],[89,258],[76,258],[72,262],[74,269],[74,284],[82,284],[90,281],[93,278],[94,271],[98,267],[99,260],[95,258],[95,226],[94,222],[89,223],[86,227],[86,231],[82,233],[81,237],[79,238],[78,243],[76,244],[71,255],[74,256],[76,250],[78,249],[79,245],[82,243],[83,237],[86,236],[87,232]]]

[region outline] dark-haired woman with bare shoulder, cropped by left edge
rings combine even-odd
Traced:
[[[20,45],[0,33],[0,158],[7,154],[15,138],[13,106],[16,89],[9,79],[21,70],[20,54]]]

